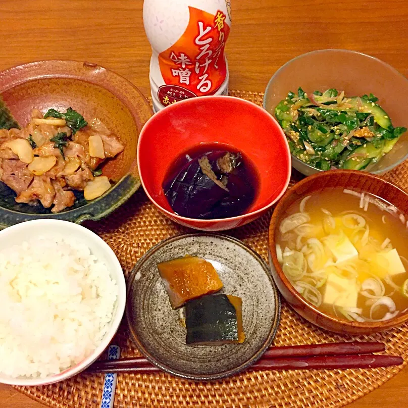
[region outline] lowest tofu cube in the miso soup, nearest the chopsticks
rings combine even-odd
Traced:
[[[341,308],[355,308],[358,294],[355,279],[344,278],[333,272],[327,277],[323,303],[335,304]]]

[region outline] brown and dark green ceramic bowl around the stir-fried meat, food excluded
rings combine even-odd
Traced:
[[[58,214],[41,205],[15,202],[14,191],[0,182],[0,229],[39,218],[76,223],[100,220],[139,188],[137,140],[152,111],[145,97],[125,78],[87,62],[40,61],[0,72],[0,94],[21,126],[27,124],[34,108],[45,113],[50,108],[72,107],[88,120],[99,118],[126,146],[102,167],[114,186],[92,201],[75,192],[75,205]]]

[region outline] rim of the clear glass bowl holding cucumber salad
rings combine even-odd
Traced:
[[[377,57],[373,57],[369,54],[365,54],[365,53],[361,53],[360,51],[355,51],[353,49],[344,49],[344,48],[323,48],[323,49],[315,49],[313,51],[309,51],[308,53],[303,53],[300,54],[292,59],[290,59],[289,61],[286,61],[285,64],[283,64],[277,71],[275,71],[275,73],[272,75],[271,79],[268,81],[268,85],[265,88],[265,92],[264,92],[264,98],[263,98],[263,103],[262,106],[263,108],[266,110],[266,105],[267,105],[267,94],[269,91],[269,88],[272,86],[272,82],[275,78],[275,76],[277,76],[281,71],[283,71],[287,66],[289,66],[292,62],[294,62],[295,60],[301,59],[305,56],[309,56],[312,54],[324,54],[327,52],[336,52],[336,53],[345,53],[345,54],[354,54],[354,55],[359,55],[362,56],[363,58],[367,58],[370,60],[374,60],[382,65],[384,65],[385,67],[387,67],[390,71],[392,71],[395,75],[401,77],[402,79],[404,79],[406,82],[408,82],[408,78],[406,78],[404,75],[402,75],[398,70],[396,70],[392,65],[380,60]],[[271,114],[272,116],[272,114]],[[323,171],[327,171],[327,170],[321,170],[321,169],[317,169],[316,167],[311,166],[308,163],[305,163],[303,161],[301,161],[300,159],[298,159],[297,157],[293,156],[292,154],[290,155],[292,158],[292,161],[298,163],[300,166],[304,166],[307,169],[310,169],[311,171],[315,172],[315,173],[321,173]],[[378,174],[381,175],[383,173],[386,173],[387,171],[392,170],[393,168],[395,168],[396,166],[400,165],[404,160],[406,160],[408,158],[408,152],[405,154],[405,156],[398,160],[397,162],[387,166],[384,169],[381,170],[374,170],[374,171],[367,171],[366,173],[370,173],[370,174]],[[336,170],[343,170],[343,169],[336,169]],[[302,172],[301,172],[302,173]]]

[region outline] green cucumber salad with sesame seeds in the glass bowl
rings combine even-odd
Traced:
[[[404,127],[393,127],[370,95],[346,97],[328,89],[289,92],[275,108],[293,156],[321,170],[363,170],[387,154]]]

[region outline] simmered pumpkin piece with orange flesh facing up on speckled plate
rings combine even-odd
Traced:
[[[223,286],[213,265],[197,257],[177,258],[161,262],[157,267],[173,309],[187,300],[217,292]]]

